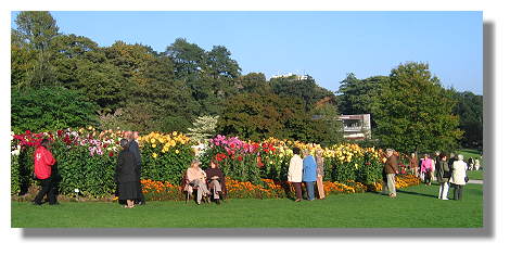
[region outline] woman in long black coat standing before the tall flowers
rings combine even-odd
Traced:
[[[139,197],[140,178],[136,171],[136,157],[129,151],[129,141],[120,140],[123,151],[118,154],[117,167],[115,171],[115,180],[118,183],[118,199],[126,200],[127,205],[124,207],[135,207],[135,200]]]

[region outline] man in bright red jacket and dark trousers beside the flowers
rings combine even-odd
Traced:
[[[54,181],[52,180],[51,166],[55,164],[55,158],[51,154],[49,148],[49,140],[42,139],[41,145],[36,149],[34,153],[34,173],[37,179],[41,181],[41,190],[37,193],[33,203],[35,205],[42,204],[42,197],[48,196],[50,205],[56,203],[56,194],[54,191]]]

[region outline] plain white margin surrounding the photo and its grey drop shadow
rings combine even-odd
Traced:
[[[146,254],[148,252],[158,252],[164,254],[174,253],[206,253],[209,248],[220,251],[224,254],[245,254],[245,253],[332,253],[332,254],[433,254],[433,253],[451,253],[459,254],[487,254],[496,252],[499,248],[508,247],[509,232],[509,209],[508,191],[506,188],[509,180],[510,169],[506,169],[508,149],[505,144],[510,144],[508,136],[505,136],[505,127],[507,119],[510,117],[508,113],[508,71],[509,66],[505,63],[508,60],[508,47],[510,42],[508,33],[510,31],[508,9],[503,8],[505,1],[339,1],[340,3],[330,3],[326,1],[253,1],[244,3],[243,1],[8,1],[2,2],[1,7],[1,37],[0,37],[0,64],[1,64],[1,176],[0,176],[0,195],[1,195],[1,242],[3,254],[29,254],[29,253],[52,253],[52,254],[90,254],[92,251],[101,253],[128,253],[128,254]],[[164,4],[164,5],[162,5]],[[496,158],[493,163],[495,169],[494,186],[496,196],[494,201],[494,234],[492,237],[466,238],[451,237],[431,238],[431,237],[410,237],[405,238],[392,237],[391,233],[384,233],[381,238],[314,238],[311,234],[305,238],[295,237],[256,237],[256,238],[215,238],[215,239],[178,239],[174,237],[162,238],[26,238],[23,237],[21,229],[11,229],[10,220],[10,197],[9,197],[9,136],[10,126],[10,15],[11,11],[18,10],[50,10],[50,11],[100,11],[100,10],[141,10],[141,11],[161,11],[161,10],[209,10],[209,11],[238,11],[238,10],[285,10],[285,11],[483,11],[484,22],[494,24],[494,62],[493,73],[495,74],[493,81],[495,88],[484,88],[493,91],[490,102],[496,102],[493,116],[499,116],[493,119],[493,123],[485,122],[485,129],[494,132],[493,141],[495,144],[485,142],[485,146],[492,146]],[[455,31],[452,31],[455,33]],[[506,47],[505,47],[506,46]],[[485,65],[487,66],[487,65]],[[507,77],[503,77],[507,75]],[[485,85],[486,86],[486,85]],[[485,94],[484,90],[484,94]],[[487,100],[487,98],[485,98]],[[493,126],[495,125],[495,126]],[[508,167],[507,167],[508,168]],[[467,212],[468,213],[468,212]],[[171,217],[169,213],[168,217]],[[242,231],[240,231],[242,232]],[[8,248],[9,247],[9,248]],[[500,250],[506,251],[506,250]],[[501,253],[498,251],[498,253]]]

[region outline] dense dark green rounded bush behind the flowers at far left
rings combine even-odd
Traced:
[[[61,87],[11,91],[11,126],[16,133],[91,125],[95,109],[80,93]]]

